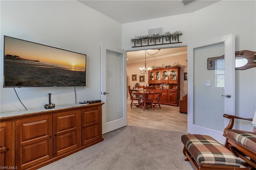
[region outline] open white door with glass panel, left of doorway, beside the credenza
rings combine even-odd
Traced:
[[[126,81],[126,51],[102,44],[102,134],[127,125]]]

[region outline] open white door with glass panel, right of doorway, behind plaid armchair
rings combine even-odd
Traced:
[[[224,59],[208,58],[224,55]],[[222,95],[230,94],[231,97]],[[235,115],[235,35],[188,45],[188,133],[206,134],[224,144],[228,120]]]

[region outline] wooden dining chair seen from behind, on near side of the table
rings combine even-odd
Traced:
[[[154,87],[146,87],[143,86],[143,99],[142,99],[142,107],[144,107],[143,111],[145,111],[146,107],[150,107],[154,109],[153,99],[155,96],[155,88]]]

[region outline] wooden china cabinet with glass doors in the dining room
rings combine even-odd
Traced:
[[[156,91],[160,91],[160,85],[166,85],[160,104],[179,106],[180,100],[180,67],[153,69],[148,74],[149,86],[156,85]]]

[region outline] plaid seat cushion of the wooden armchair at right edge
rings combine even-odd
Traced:
[[[256,133],[243,130],[228,129],[226,136],[256,152]]]

